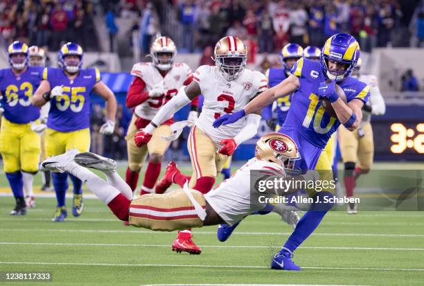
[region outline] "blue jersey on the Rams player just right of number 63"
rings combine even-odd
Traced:
[[[47,127],[60,132],[72,132],[90,125],[91,89],[100,81],[98,69],[81,69],[77,77],[69,80],[62,69],[45,68],[43,80],[50,87],[63,85],[63,94],[52,98]]]

